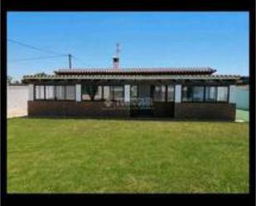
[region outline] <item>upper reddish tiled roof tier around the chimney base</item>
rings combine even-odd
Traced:
[[[114,69],[59,69],[56,74],[213,74],[210,67],[123,68]]]

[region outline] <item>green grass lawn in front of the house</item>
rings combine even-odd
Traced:
[[[7,192],[248,193],[249,124],[14,118]]]

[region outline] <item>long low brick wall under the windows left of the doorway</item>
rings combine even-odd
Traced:
[[[29,116],[129,117],[129,108],[112,103],[75,101],[28,101]]]

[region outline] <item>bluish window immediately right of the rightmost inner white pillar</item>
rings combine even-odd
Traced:
[[[204,87],[201,86],[185,86],[182,88],[183,102],[203,102]]]

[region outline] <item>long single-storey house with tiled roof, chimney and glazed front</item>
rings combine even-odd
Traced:
[[[235,119],[239,75],[202,68],[59,69],[26,75],[28,116]]]

